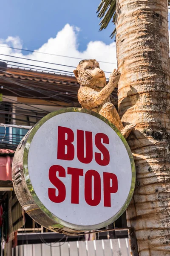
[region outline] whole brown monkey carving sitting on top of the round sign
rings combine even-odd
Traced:
[[[120,73],[114,70],[111,73],[109,82],[106,84],[106,77],[95,59],[82,60],[79,62],[74,75],[80,84],[78,101],[82,108],[95,111],[107,118],[115,125],[122,135],[127,138],[134,124],[123,126],[115,106],[111,103],[110,95],[119,82]]]

